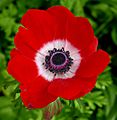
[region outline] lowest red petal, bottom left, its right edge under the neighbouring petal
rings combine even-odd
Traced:
[[[22,91],[21,98],[24,105],[30,109],[42,108],[56,100],[57,97],[48,93],[48,86],[49,82],[41,77],[35,79],[30,87],[26,87],[25,85],[20,86]]]

